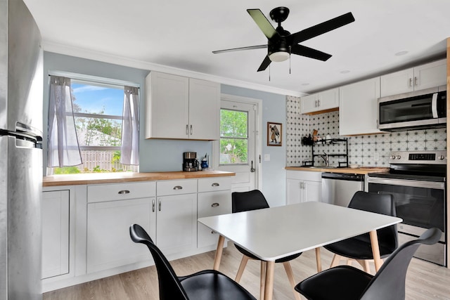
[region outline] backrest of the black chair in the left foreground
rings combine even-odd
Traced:
[[[174,269],[170,266],[169,261],[167,261],[160,249],[153,243],[146,230],[138,224],[133,224],[129,227],[129,235],[133,242],[146,244],[153,256],[156,270],[158,271],[160,300],[188,300],[188,295],[181,286],[178,277],[176,277]]]

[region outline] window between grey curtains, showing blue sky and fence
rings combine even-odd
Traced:
[[[124,86],[72,79],[72,106],[83,164],[53,174],[139,171],[120,164]]]

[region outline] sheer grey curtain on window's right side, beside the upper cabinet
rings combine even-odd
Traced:
[[[121,164],[139,164],[139,88],[124,86]]]

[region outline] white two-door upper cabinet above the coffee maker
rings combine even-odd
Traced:
[[[219,139],[220,84],[150,72],[146,138]]]

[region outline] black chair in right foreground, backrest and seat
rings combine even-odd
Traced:
[[[309,300],[405,299],[406,271],[421,244],[435,244],[442,231],[430,228],[418,240],[402,244],[386,259],[375,276],[352,266],[337,266],[312,275],[295,286]]]

